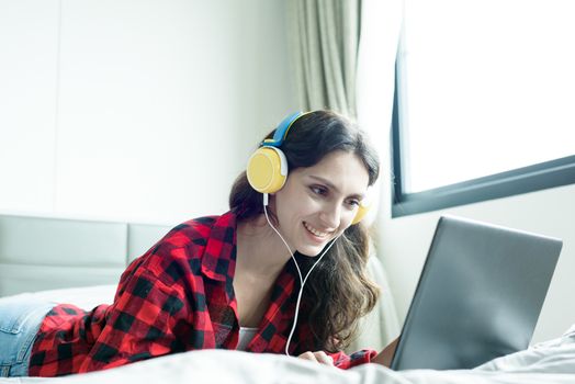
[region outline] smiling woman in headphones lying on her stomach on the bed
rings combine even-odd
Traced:
[[[372,361],[375,351],[340,350],[379,295],[358,224],[376,154],[329,111],[290,116],[275,133],[263,149],[284,154],[284,184],[256,191],[255,155],[232,189],[230,211],[173,228],[126,269],[113,304],[0,307],[0,329],[21,319],[18,331],[0,331],[3,374],[56,376],[208,348],[339,368]]]

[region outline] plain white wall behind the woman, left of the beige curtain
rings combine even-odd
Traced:
[[[0,211],[224,212],[296,106],[284,23],[282,0],[0,1]]]

